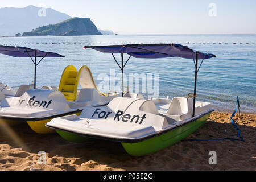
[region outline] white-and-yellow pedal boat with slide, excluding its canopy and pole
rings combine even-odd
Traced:
[[[81,85],[81,90],[77,88]],[[79,71],[69,65],[61,76],[59,90],[31,89],[20,97],[4,98],[0,104],[0,122],[10,125],[27,122],[39,134],[54,133],[45,127],[51,119],[64,115],[80,115],[87,106],[107,105],[117,93],[101,93],[90,69],[84,65]]]

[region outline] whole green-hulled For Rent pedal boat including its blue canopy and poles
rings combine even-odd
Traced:
[[[210,53],[194,51],[180,44],[127,44],[114,46],[85,46],[103,53],[112,53],[122,71],[122,98],[115,98],[107,106],[87,107],[80,117],[69,115],[46,123],[56,129],[61,137],[79,142],[88,138],[111,140],[122,143],[126,152],[133,156],[152,154],[192,134],[214,111],[210,103],[196,101],[197,73],[204,60],[216,57]],[[114,53],[121,53],[121,64]],[[124,61],[124,53],[129,59]],[[181,57],[193,59],[195,87],[188,98],[172,100],[144,100],[139,94],[124,93],[123,73],[131,57],[160,59]],[[201,64],[199,63],[201,59]],[[148,62],[147,62],[148,63]],[[192,100],[193,98],[193,100]]]

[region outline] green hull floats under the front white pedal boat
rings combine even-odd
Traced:
[[[159,136],[138,143],[122,143],[122,146],[125,151],[132,156],[150,155],[188,137],[189,135],[194,133],[200,126],[202,126],[209,117],[210,113],[204,115],[199,119],[196,119],[195,121],[189,122],[185,125],[177,127],[176,129],[168,131],[167,133],[160,134]],[[57,130],[57,133],[62,138],[70,142],[88,142],[92,140],[91,138],[67,133],[65,131]]]

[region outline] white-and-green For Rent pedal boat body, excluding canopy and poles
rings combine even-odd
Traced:
[[[172,100],[142,97],[114,98],[107,106],[86,107],[80,117],[68,115],[46,123],[61,137],[72,142],[92,139],[122,143],[133,156],[162,150],[196,131],[214,111],[210,103],[196,102],[195,117],[191,98]]]

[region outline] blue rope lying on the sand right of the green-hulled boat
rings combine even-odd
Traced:
[[[188,139],[188,140],[183,140],[184,142],[209,142],[209,141],[223,141],[223,140],[231,140],[231,141],[242,141],[244,142],[245,140],[243,139],[243,137],[241,137],[241,130],[237,127],[236,123],[233,121],[233,117],[234,115],[237,113],[237,108],[240,108],[240,102],[239,102],[239,98],[237,96],[237,105],[236,105],[236,109],[234,110],[234,113],[232,114],[232,116],[230,117],[231,122],[233,123],[233,125],[235,126],[236,130],[238,130],[237,132],[237,137],[241,138],[241,139],[234,139],[234,138],[222,138],[222,139],[209,139],[209,140],[201,140],[201,139]]]

